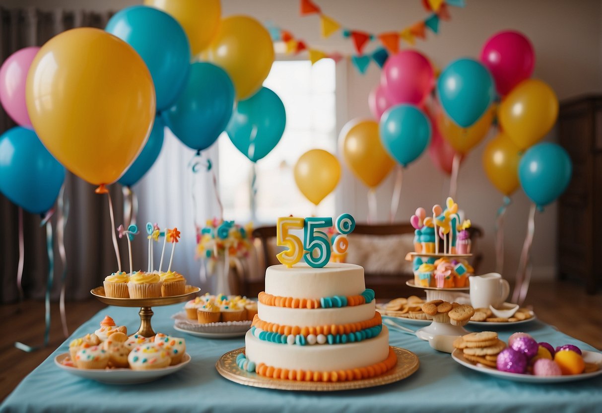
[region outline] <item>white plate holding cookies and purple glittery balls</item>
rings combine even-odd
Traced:
[[[526,383],[561,383],[561,382],[573,382],[575,380],[584,380],[591,377],[600,376],[602,374],[602,353],[588,352],[582,350],[583,359],[589,363],[595,363],[600,365],[600,369],[593,371],[592,373],[572,374],[571,376],[533,376],[532,374],[518,374],[518,373],[507,373],[506,371],[500,371],[492,367],[486,367],[481,364],[473,364],[464,358],[462,350],[456,349],[452,353],[452,358],[464,365],[465,367],[471,368],[472,370],[480,371],[481,373],[489,374],[490,376],[500,377],[506,380],[513,380],[515,382],[526,382]]]

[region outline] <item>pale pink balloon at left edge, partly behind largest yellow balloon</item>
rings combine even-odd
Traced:
[[[0,103],[8,116],[33,129],[25,104],[25,82],[29,66],[40,48],[25,48],[11,54],[0,67]]]

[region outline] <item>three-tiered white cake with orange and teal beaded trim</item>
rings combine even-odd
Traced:
[[[262,376],[353,380],[392,368],[396,355],[359,265],[273,265],[238,365]]]

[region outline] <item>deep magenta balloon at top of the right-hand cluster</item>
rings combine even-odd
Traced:
[[[505,30],[485,42],[480,60],[493,75],[497,92],[504,96],[524,79],[531,77],[535,52],[523,33]]]

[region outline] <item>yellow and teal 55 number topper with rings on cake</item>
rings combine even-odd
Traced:
[[[355,219],[350,214],[341,214],[335,221],[335,229],[340,232],[334,237],[332,247],[326,232],[317,231],[320,228],[332,227],[332,218],[310,217],[281,217],[278,219],[276,231],[276,245],[288,249],[276,255],[278,261],[287,267],[292,267],[305,259],[308,265],[314,268],[324,267],[330,260],[332,249],[338,254],[347,251],[349,241],[347,234],[355,229]],[[291,230],[303,230],[303,242],[299,237],[290,233]]]

